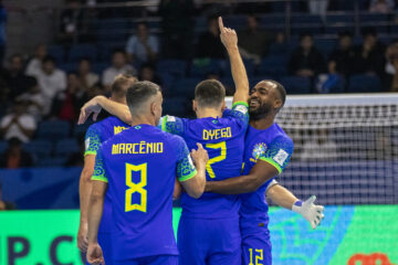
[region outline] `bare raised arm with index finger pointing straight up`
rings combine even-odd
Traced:
[[[223,26],[222,18],[219,18],[220,38],[222,44],[228,51],[231,63],[231,72],[235,85],[235,93],[232,103],[248,102],[249,98],[249,80],[245,67],[238,47],[238,35],[234,30]]]

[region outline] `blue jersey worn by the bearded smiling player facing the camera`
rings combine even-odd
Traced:
[[[287,166],[293,153],[293,141],[277,125],[273,124],[265,130],[258,130],[249,126],[245,137],[243,174],[249,174],[258,160],[274,166],[281,173]],[[268,203],[265,201],[266,182],[255,192],[242,194],[240,209],[241,229],[258,227],[259,223],[268,225]]]

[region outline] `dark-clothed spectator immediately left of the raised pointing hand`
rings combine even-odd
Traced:
[[[224,59],[226,52],[220,40],[217,17],[208,18],[208,31],[198,39],[197,59]]]

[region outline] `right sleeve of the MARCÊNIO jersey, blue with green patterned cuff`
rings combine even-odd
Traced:
[[[193,178],[197,174],[197,170],[193,166],[187,144],[182,140],[182,138],[176,138],[174,146],[177,151],[177,179],[180,182],[184,182]]]

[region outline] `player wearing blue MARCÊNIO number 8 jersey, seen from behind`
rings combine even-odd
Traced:
[[[177,264],[172,230],[176,176],[189,195],[199,198],[206,184],[208,155],[198,144],[198,151],[192,151],[193,166],[184,139],[156,128],[163,103],[159,86],[136,82],[126,98],[132,127],[109,138],[97,151],[88,205],[87,261],[104,262],[97,233],[108,189],[114,264]]]

